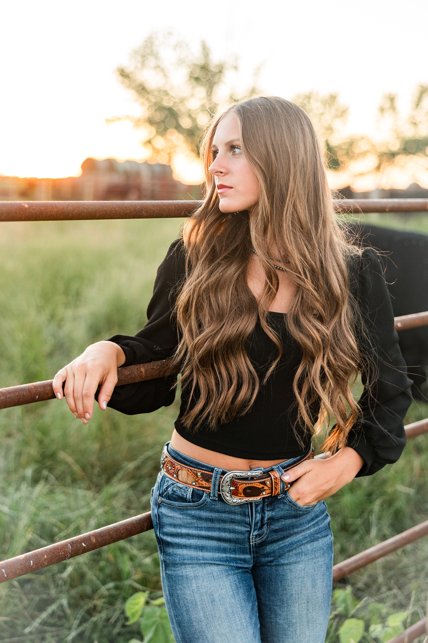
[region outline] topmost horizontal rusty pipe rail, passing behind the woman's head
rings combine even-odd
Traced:
[[[183,219],[202,201],[0,201],[1,221]],[[338,212],[425,212],[428,199],[336,199]]]

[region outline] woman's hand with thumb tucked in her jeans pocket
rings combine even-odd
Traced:
[[[305,507],[332,496],[355,478],[363,464],[361,455],[347,446],[327,460],[312,459],[296,464],[283,473],[281,479],[293,482],[289,496]]]

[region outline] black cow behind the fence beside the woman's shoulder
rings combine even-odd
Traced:
[[[348,226],[351,239],[380,251],[395,316],[428,311],[428,236],[366,224]],[[413,379],[413,396],[427,400],[428,326],[398,332]]]

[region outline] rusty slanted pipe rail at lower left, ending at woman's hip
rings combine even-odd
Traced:
[[[0,583],[5,583],[24,574],[30,574],[38,569],[49,567],[49,565],[62,563],[62,561],[67,561],[70,558],[74,558],[74,556],[92,552],[94,549],[117,543],[119,540],[141,534],[149,529],[153,529],[150,511],[146,514],[133,516],[128,520],[114,523],[114,525],[107,525],[107,527],[89,531],[87,534],[81,534],[81,536],[63,540],[60,543],[47,545],[47,547],[36,549],[34,552],[28,552],[28,554],[22,554],[22,556],[9,558],[0,563]]]

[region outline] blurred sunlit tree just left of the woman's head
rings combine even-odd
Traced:
[[[130,66],[119,67],[123,85],[136,96],[142,108],[138,118],[124,116],[144,131],[144,147],[151,163],[171,163],[171,156],[184,147],[199,155],[201,136],[217,113],[220,102],[230,103],[258,93],[253,86],[241,95],[221,96],[227,74],[237,71],[236,62],[214,62],[209,47],[201,41],[194,53],[172,33],[151,33],[132,52]]]

